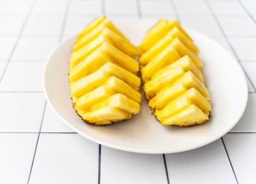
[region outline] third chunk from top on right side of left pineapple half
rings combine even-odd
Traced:
[[[102,49],[102,51],[107,53],[110,56],[110,58],[113,58],[113,60],[116,61],[116,63],[120,64],[121,66],[124,66],[124,69],[127,69],[129,72],[132,73],[138,72],[138,61],[136,61],[134,58],[129,57],[129,55],[126,55],[125,53],[121,52],[121,50],[118,50],[109,42],[104,42],[100,48]]]

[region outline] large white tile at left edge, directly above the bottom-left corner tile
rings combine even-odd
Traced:
[[[0,93],[1,131],[39,131],[45,98],[42,93]]]

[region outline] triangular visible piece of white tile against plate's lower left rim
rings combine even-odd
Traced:
[[[56,115],[55,112],[47,105],[45,110],[44,120],[42,121],[43,132],[74,132],[70,129],[61,119]]]

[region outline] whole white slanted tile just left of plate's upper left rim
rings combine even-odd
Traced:
[[[54,47],[58,45],[58,42],[58,38],[22,37],[18,42],[12,59],[45,61],[50,56],[50,53],[53,52]]]

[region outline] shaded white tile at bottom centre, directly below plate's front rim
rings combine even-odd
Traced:
[[[102,146],[101,183],[167,183],[162,155],[145,155]]]

